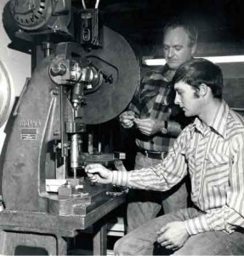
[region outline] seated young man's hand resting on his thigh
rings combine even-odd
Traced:
[[[182,221],[173,221],[157,231],[157,242],[167,249],[177,250],[183,247],[185,241],[189,238],[189,234]]]

